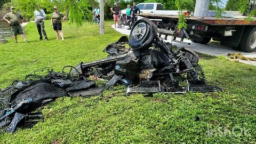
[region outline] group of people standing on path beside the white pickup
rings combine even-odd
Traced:
[[[115,28],[119,28],[119,14],[121,14],[119,4],[117,3],[114,7],[111,7],[110,10],[113,13]],[[136,3],[133,2],[133,7],[131,8],[130,5],[127,5],[127,9],[126,9],[126,19],[127,21],[131,21],[131,23],[129,23],[128,29],[131,29],[133,23],[138,19],[138,15],[135,15],[135,14],[140,14],[140,9],[139,7],[136,6]],[[116,22],[117,22],[117,27],[116,27]]]

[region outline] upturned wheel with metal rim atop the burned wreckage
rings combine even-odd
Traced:
[[[139,19],[134,23],[129,37],[132,49],[148,49],[157,36],[156,25],[147,18]]]

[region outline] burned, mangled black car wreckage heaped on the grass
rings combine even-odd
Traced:
[[[126,44],[131,48],[127,49]],[[146,18],[134,23],[130,38],[122,36],[103,52],[108,53],[105,59],[66,66],[60,73],[47,67],[38,69],[24,81],[14,81],[1,90],[7,106],[0,111],[0,128],[7,127],[7,132],[14,132],[18,124],[42,118],[41,113],[31,112],[49,101],[63,96],[101,95],[116,83],[126,85],[127,94],[222,90],[205,84],[195,52],[186,48],[174,50],[171,43],[157,37],[157,27]],[[108,82],[98,87],[95,79]]]

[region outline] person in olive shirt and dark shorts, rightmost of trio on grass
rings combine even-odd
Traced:
[[[61,36],[62,41],[64,40],[63,32],[61,30],[62,24],[61,22],[66,19],[65,15],[58,12],[58,7],[54,6],[54,12],[52,13],[52,19],[51,19],[51,26],[53,26],[53,29],[56,33],[56,39],[59,39],[59,34]],[[62,18],[63,17],[63,18]],[[62,20],[61,20],[62,18]]]

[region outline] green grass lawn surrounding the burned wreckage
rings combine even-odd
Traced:
[[[105,35],[96,25],[76,29],[64,23],[66,39],[55,41],[49,25],[46,21],[48,42],[39,42],[35,24],[29,23],[30,43],[0,45],[0,87],[37,68],[59,71],[103,58],[103,47],[121,36],[110,21]],[[255,143],[256,67],[203,54],[199,63],[207,84],[224,92],[126,96],[125,87],[118,86],[103,97],[59,98],[42,109],[44,122],[2,133],[0,143]]]

